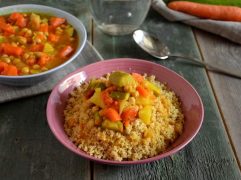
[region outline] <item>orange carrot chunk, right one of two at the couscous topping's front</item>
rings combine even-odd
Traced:
[[[135,120],[135,117],[138,114],[137,107],[128,107],[121,113],[121,118],[124,122],[124,125],[127,126],[131,121]]]

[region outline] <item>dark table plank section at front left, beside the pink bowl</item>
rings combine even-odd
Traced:
[[[90,179],[90,163],[61,145],[45,115],[48,94],[0,104],[0,177]]]

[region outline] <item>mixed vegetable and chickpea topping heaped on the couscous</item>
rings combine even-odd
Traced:
[[[98,107],[94,124],[119,132],[137,119],[149,125],[154,100],[161,93],[159,85],[138,73],[114,71],[108,77],[109,81],[91,79],[85,91],[85,97]]]

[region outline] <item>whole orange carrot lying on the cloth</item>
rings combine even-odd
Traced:
[[[198,16],[200,18],[241,22],[241,8],[235,6],[173,1],[168,3],[168,7],[170,9]]]

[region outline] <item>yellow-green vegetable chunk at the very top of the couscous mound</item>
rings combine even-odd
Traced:
[[[115,71],[111,73],[109,80],[112,84],[119,87],[136,86],[135,79],[130,74],[122,71]]]

